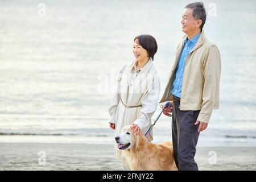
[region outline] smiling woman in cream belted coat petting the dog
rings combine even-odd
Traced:
[[[126,125],[132,125],[131,129],[136,134],[145,134],[151,125],[160,93],[160,80],[152,62],[157,49],[156,40],[151,35],[134,38],[135,61],[119,72],[117,90],[109,108],[109,126],[115,130],[115,135],[121,133]],[[152,140],[152,131],[148,140]],[[117,146],[115,154],[117,159],[121,159],[122,151]]]

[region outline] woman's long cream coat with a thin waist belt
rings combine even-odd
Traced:
[[[115,135],[121,133],[123,126],[131,124],[138,125],[142,134],[145,134],[151,125],[151,117],[159,104],[160,80],[152,59],[139,73],[134,70],[135,65],[134,61],[119,72],[117,90],[109,108],[109,113],[112,116],[110,122],[115,123]],[[127,108],[121,100],[127,106],[138,107]],[[152,131],[148,135],[148,139],[152,140]],[[117,158],[119,158],[121,151],[116,146],[115,149]]]

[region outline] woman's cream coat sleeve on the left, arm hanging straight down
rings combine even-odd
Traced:
[[[116,85],[116,89],[115,89],[115,93],[114,93],[114,97],[113,97],[113,100],[110,104],[110,107],[109,107],[109,114],[110,114],[110,123],[115,123],[115,115],[117,113],[117,106],[118,106],[118,103],[120,101],[120,82],[121,82],[121,79],[122,79],[122,75],[123,75],[123,72],[125,71],[125,67],[126,65],[121,69],[121,71],[119,71],[118,73],[118,78],[117,78],[117,85]]]

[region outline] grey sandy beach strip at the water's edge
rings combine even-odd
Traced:
[[[0,143],[0,170],[121,171],[113,147],[112,144]],[[46,163],[39,161],[38,154],[42,152],[46,154]],[[195,159],[200,171],[256,170],[256,147],[197,147]]]

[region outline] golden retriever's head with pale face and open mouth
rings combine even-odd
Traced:
[[[119,150],[127,150],[133,148],[134,150],[141,150],[146,144],[146,138],[141,133],[138,135],[131,131],[131,125],[125,126],[121,130],[121,134],[115,136],[115,142]]]

